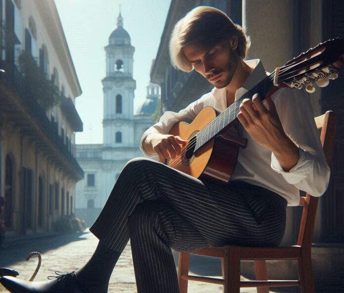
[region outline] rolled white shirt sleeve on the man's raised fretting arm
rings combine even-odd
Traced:
[[[322,149],[312,106],[305,92],[284,88],[275,101],[283,129],[299,146],[300,158],[289,172],[283,171],[274,154],[271,168],[289,184],[313,196],[324,194],[330,179],[330,168]],[[291,114],[292,113],[292,114]]]

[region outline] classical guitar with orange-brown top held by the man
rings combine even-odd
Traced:
[[[217,115],[214,108],[205,107],[190,123],[178,122],[170,134],[187,140],[180,156],[166,160],[166,164],[195,178],[213,180],[225,185],[230,180],[246,139],[236,134],[237,114],[244,98],[256,93],[263,100],[279,88],[289,87],[314,92],[338,77],[344,63],[344,40],[336,38],[320,43],[301,53],[260,81],[248,93]]]

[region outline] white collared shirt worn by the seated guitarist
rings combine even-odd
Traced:
[[[245,61],[255,68],[242,88],[235,94],[235,100],[247,93],[258,82],[266,77],[260,60]],[[239,133],[247,139],[247,147],[240,148],[238,162],[231,180],[241,180],[269,189],[282,195],[288,205],[295,206],[300,202],[299,190],[313,196],[322,195],[330,178],[330,169],[320,143],[312,106],[309,97],[303,90],[290,88],[279,89],[271,96],[283,129],[298,145],[300,159],[289,172],[283,170],[275,155],[265,147],[258,145],[240,125]],[[263,101],[265,104],[265,100]],[[226,89],[214,88],[198,100],[192,102],[178,113],[165,112],[158,123],[143,134],[140,148],[148,134],[159,132],[168,134],[172,126],[179,121],[190,123],[206,106],[212,106],[221,113],[227,108]]]

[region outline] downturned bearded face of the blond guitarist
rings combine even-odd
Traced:
[[[231,41],[215,46],[207,52],[199,52],[187,46],[183,52],[195,70],[218,89],[226,87],[232,80],[238,65],[237,52]]]

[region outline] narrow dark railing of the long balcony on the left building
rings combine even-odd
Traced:
[[[35,98],[26,91],[24,86],[24,78],[20,71],[13,63],[0,61],[0,68],[5,70],[4,74],[0,75],[1,80],[5,80],[17,91],[19,98],[25,103],[28,109],[31,110],[39,125],[42,127],[45,135],[49,140],[55,144],[59,151],[63,154],[69,164],[77,171],[77,173],[84,178],[84,171],[78,164],[75,157],[68,150],[68,147],[63,143],[63,139],[59,136],[58,130],[45,114],[45,111]]]

